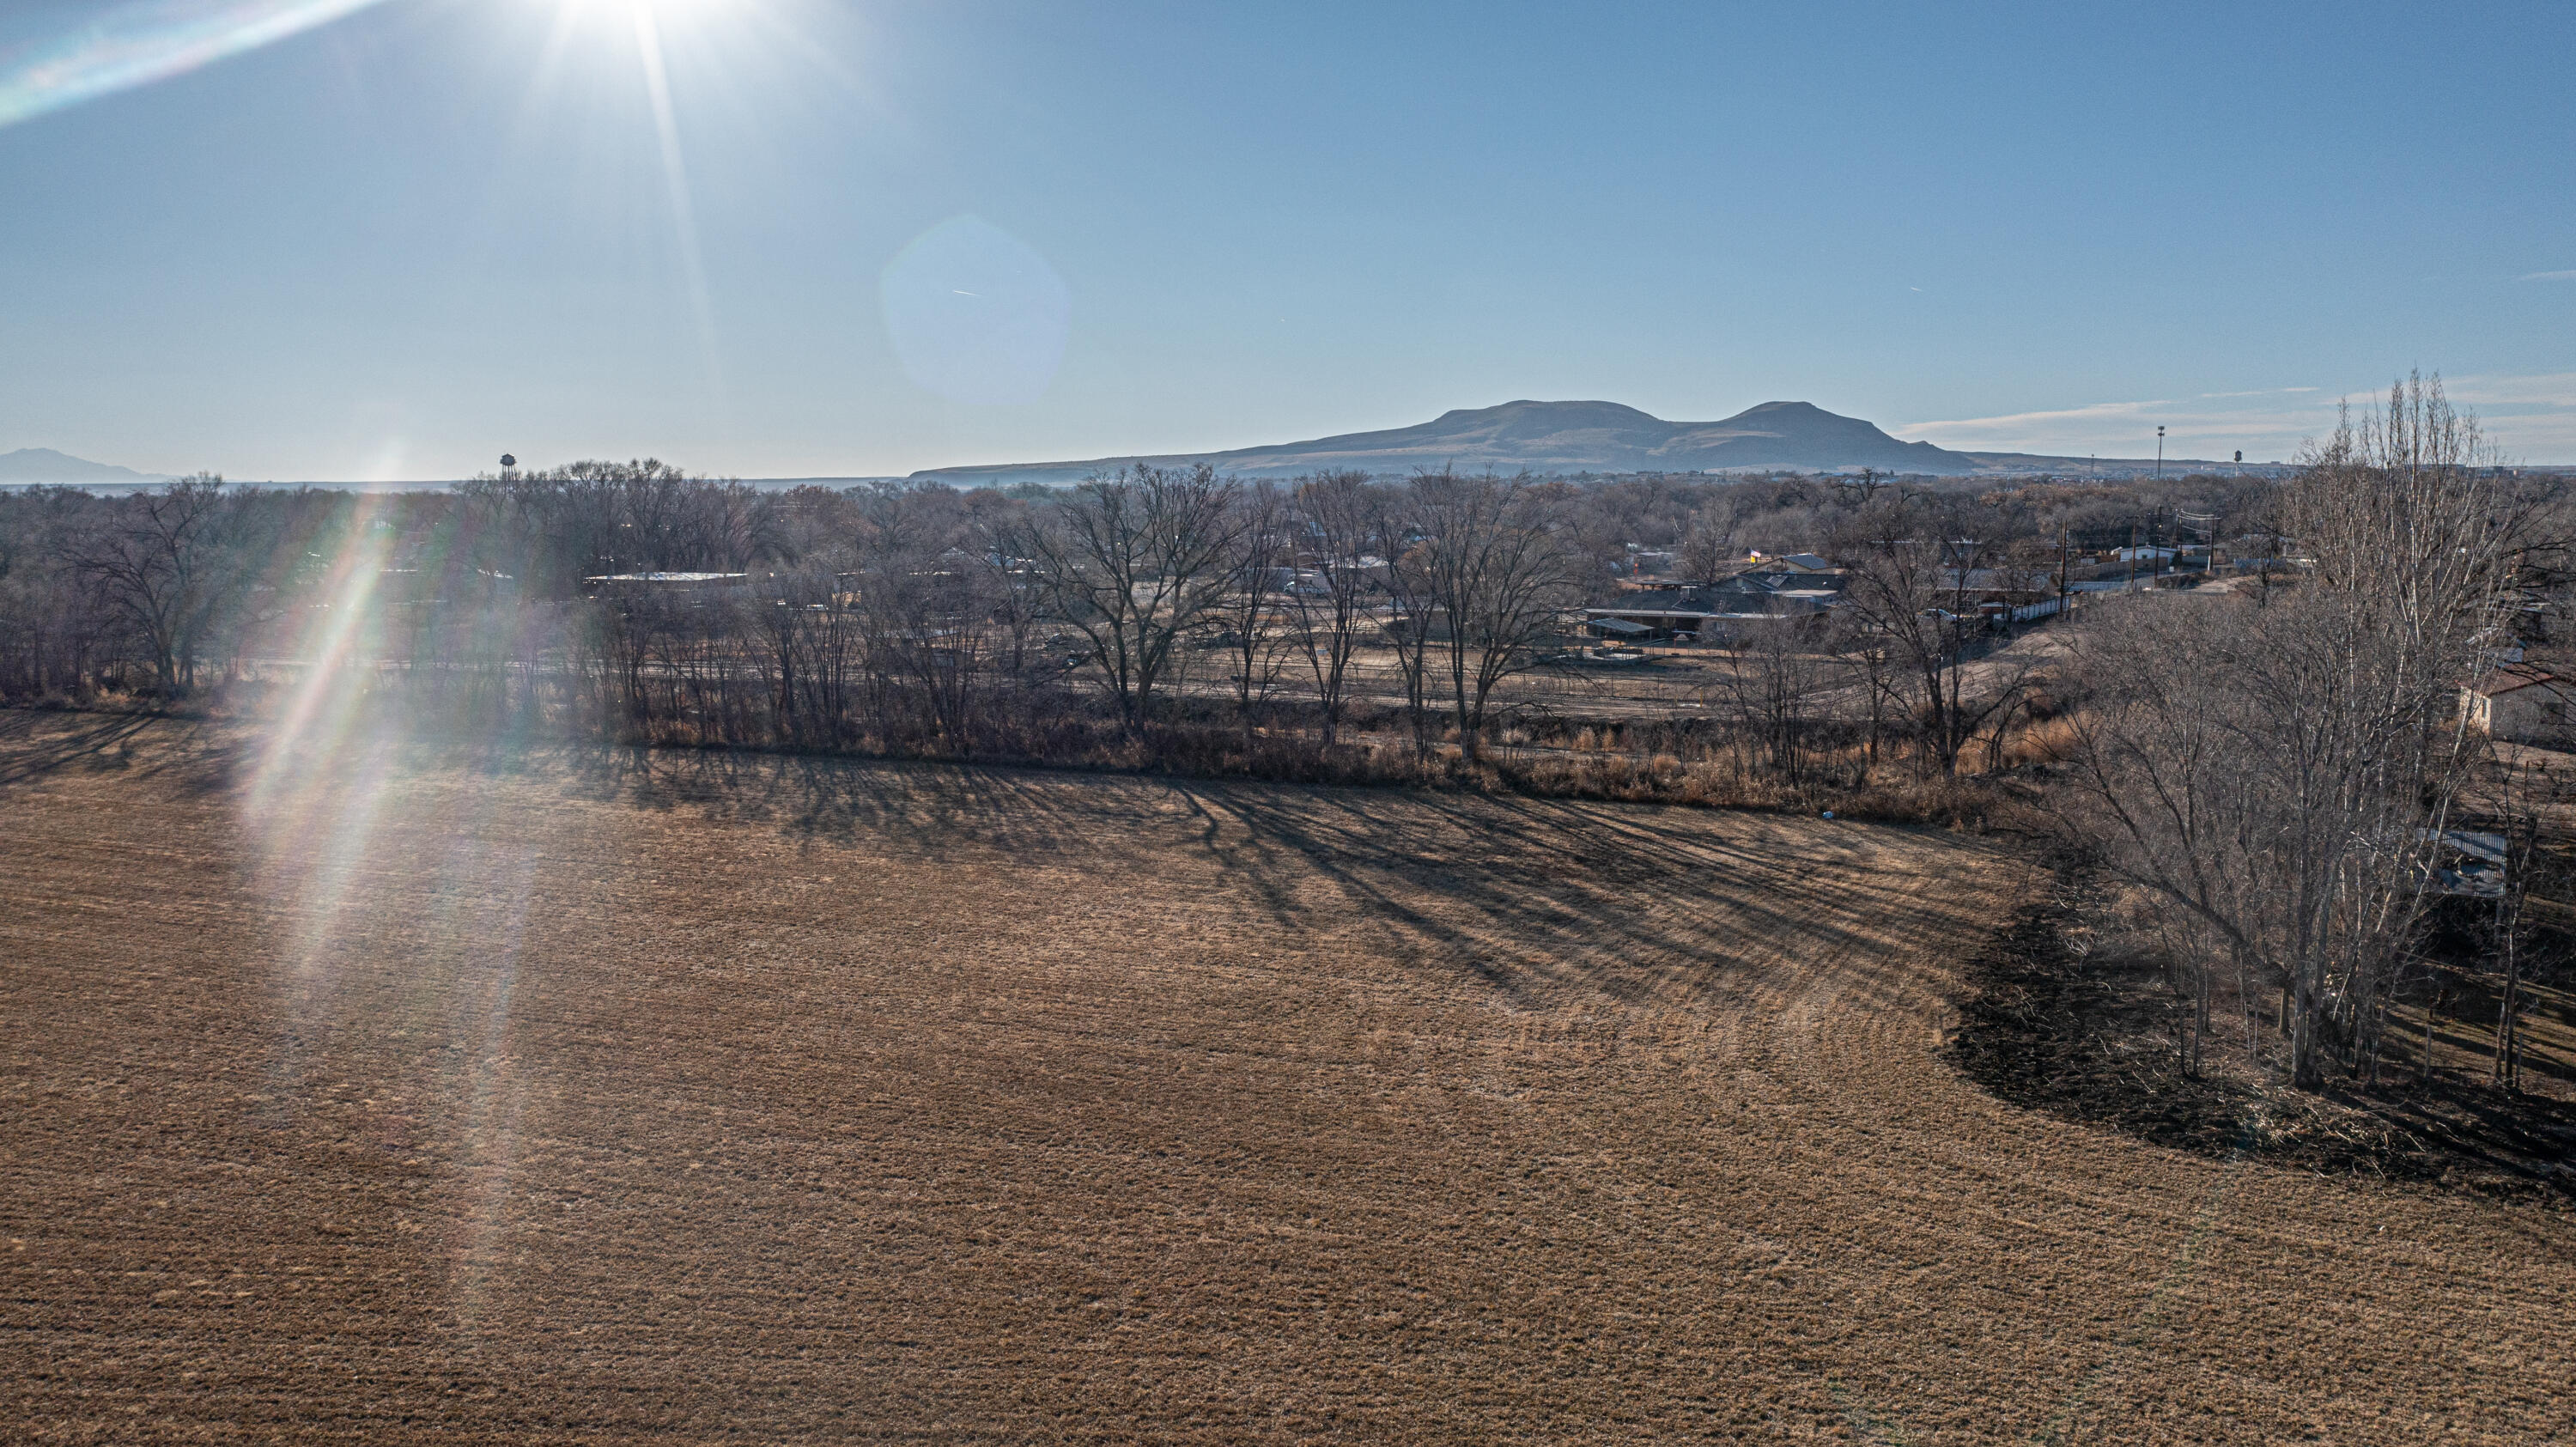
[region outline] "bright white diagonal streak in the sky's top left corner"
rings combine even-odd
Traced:
[[[0,51],[0,126],[152,85],[384,0],[152,0]]]

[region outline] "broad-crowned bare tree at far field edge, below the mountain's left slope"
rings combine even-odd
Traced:
[[[1072,489],[1015,530],[1048,613],[1077,628],[1133,734],[1180,641],[1226,590],[1239,487],[1200,463],[1128,466]]]

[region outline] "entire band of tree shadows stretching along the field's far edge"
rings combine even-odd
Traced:
[[[1249,906],[1285,932],[1368,919],[1417,968],[1466,973],[1510,1007],[1566,991],[1685,1004],[1793,963],[1852,1004],[1922,1009],[1886,958],[1981,927],[1924,888],[1924,855],[1996,855],[1919,829],[1489,793],[734,749],[551,762],[605,803],[907,860],[1133,873],[1195,855],[1216,868],[1211,909]]]

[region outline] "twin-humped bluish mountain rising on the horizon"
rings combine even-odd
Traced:
[[[1224,453],[1167,453],[1066,463],[948,466],[912,474],[958,487],[1015,481],[1082,481],[1128,463],[1213,463],[1236,476],[1291,476],[1319,469],[1404,474],[1453,466],[1458,471],[1837,471],[1880,469],[1960,476],[1981,471],[2069,471],[2081,458],[2022,453],[1953,453],[1932,443],[1899,443],[1860,417],[1839,417],[1811,402],[1765,402],[1723,422],[1664,422],[1618,402],[1504,402],[1461,407],[1414,427],[1347,433],[1311,443],[1234,448]],[[2125,463],[2112,463],[2125,466]],[[2182,466],[2169,461],[2166,466]]]

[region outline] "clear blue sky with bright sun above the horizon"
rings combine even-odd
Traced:
[[[2272,458],[2424,368],[2576,461],[2566,3],[13,0],[0,46],[0,451],[889,474],[1600,397]]]

